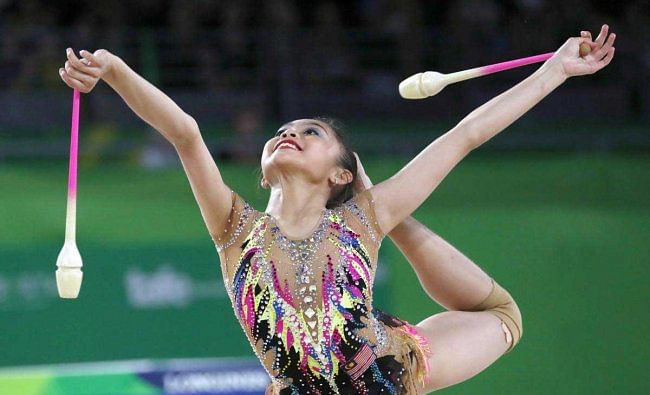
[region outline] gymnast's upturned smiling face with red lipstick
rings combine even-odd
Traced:
[[[340,170],[337,159],[341,152],[335,133],[326,123],[315,119],[298,119],[282,125],[264,145],[264,179],[270,186],[278,182],[280,175],[294,173],[314,183],[333,180]]]

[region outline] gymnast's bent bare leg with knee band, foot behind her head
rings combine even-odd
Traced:
[[[372,186],[357,156],[357,190]],[[511,351],[523,334],[510,294],[474,262],[412,217],[388,236],[413,266],[427,294],[449,311],[418,325],[430,350],[418,392],[465,381]]]

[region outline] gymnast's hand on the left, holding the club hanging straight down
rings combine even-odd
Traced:
[[[114,56],[105,49],[98,49],[95,53],[82,50],[81,59],[77,58],[72,48],[65,52],[68,60],[59,69],[59,75],[70,88],[79,92],[90,92],[97,81],[112,70]]]

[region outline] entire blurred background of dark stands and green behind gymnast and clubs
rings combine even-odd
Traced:
[[[199,123],[264,211],[264,142],[341,119],[370,177],[397,172],[539,65],[407,101],[405,77],[550,52],[603,23],[616,57],[569,79],[414,216],[516,299],[525,335],[448,394],[641,394],[650,332],[650,3],[565,0],[0,0],[0,394],[254,394],[267,376],[222,285],[175,151],[110,88],[82,95],[79,299],[57,296],[71,90],[65,49],[105,48]],[[375,305],[443,309],[389,238]],[[646,390],[643,390],[646,388]]]

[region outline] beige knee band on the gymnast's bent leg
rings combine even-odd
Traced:
[[[515,300],[510,296],[510,293],[501,287],[493,278],[490,278],[490,280],[492,281],[490,294],[485,300],[468,309],[468,311],[487,311],[501,319],[502,327],[505,325],[510,332],[508,333],[506,328],[503,328],[506,333],[506,342],[510,343],[510,347],[505,352],[507,354],[515,348],[524,333],[521,312]]]

